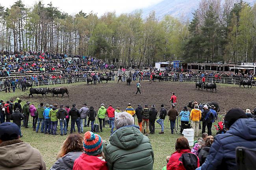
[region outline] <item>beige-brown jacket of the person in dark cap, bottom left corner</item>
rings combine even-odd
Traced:
[[[0,144],[1,170],[46,170],[45,161],[39,150],[19,139]]]

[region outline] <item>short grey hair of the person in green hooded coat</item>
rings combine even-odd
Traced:
[[[121,112],[117,117],[115,117],[114,124],[116,129],[127,125],[134,125],[134,118],[127,112]]]

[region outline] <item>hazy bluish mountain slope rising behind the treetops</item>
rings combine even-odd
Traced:
[[[162,19],[165,15],[172,15],[176,18],[183,17],[191,20],[193,12],[198,8],[201,0],[163,0],[156,5],[142,9],[142,17],[147,18],[151,11],[156,11],[156,17]],[[253,5],[256,0],[245,0]]]

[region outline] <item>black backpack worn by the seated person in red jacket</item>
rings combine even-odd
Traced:
[[[182,165],[186,170],[195,170],[197,168],[198,158],[196,154],[185,153],[179,158],[179,161],[182,162]]]

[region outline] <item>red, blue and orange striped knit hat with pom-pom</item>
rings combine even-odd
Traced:
[[[98,134],[87,131],[83,139],[83,151],[87,155],[97,156],[102,152],[102,139]]]

